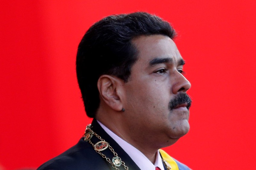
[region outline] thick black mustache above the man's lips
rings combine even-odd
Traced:
[[[192,100],[187,93],[179,93],[175,98],[169,102],[169,109],[173,110],[175,107],[187,103],[187,109],[190,108]]]

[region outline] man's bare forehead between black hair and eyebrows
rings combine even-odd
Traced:
[[[136,63],[145,64],[145,66],[155,58],[170,58],[174,64],[178,64],[182,59],[175,43],[165,35],[142,35],[133,39],[132,43],[138,50]]]

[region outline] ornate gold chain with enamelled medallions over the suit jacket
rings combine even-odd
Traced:
[[[100,139],[99,142],[97,142],[96,144],[93,144],[91,141],[92,136],[96,136],[98,139]],[[85,132],[84,132],[84,141],[89,142],[90,144],[92,144],[93,149],[99,153],[102,158],[105,158],[113,168],[115,168],[116,170],[119,170],[117,167],[123,165],[124,168],[126,170],[128,170],[128,167],[124,164],[124,161],[122,161],[122,159],[117,155],[117,153],[114,151],[114,149],[109,145],[108,142],[106,142],[104,139],[102,139],[98,134],[96,134],[95,132],[92,131],[91,129],[91,124],[88,124],[86,126]],[[114,157],[112,158],[112,161],[103,153],[101,153],[100,151],[104,151],[106,149],[110,149],[110,151],[114,154]],[[164,166],[167,168],[167,170],[171,170],[172,167],[170,166],[170,164],[165,161],[164,159],[162,159],[162,161],[164,162]]]

